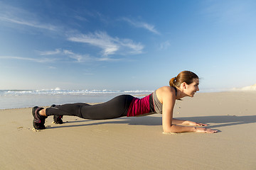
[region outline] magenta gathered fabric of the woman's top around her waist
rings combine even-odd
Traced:
[[[144,98],[133,98],[132,103],[129,106],[127,117],[143,115],[145,113],[149,113],[150,106],[149,106],[149,97],[145,96]]]

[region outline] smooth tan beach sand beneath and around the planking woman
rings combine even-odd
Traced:
[[[256,169],[256,93],[196,94],[174,118],[215,134],[164,135],[161,115],[113,120],[65,116],[33,130],[31,108],[0,110],[0,169]]]

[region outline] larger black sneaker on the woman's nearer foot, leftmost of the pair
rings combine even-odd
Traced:
[[[39,108],[38,106],[35,106],[32,108],[32,115],[33,115],[33,127],[36,130],[43,130],[46,129],[46,126],[44,125],[46,122],[47,116],[43,116],[39,114],[39,111],[41,111],[43,108]]]

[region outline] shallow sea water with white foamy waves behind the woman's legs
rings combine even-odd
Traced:
[[[0,90],[0,109],[50,106],[64,103],[101,103],[121,94],[138,98],[153,91],[110,91],[110,90]]]

